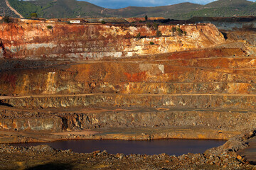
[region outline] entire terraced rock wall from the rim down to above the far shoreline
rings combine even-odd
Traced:
[[[196,127],[216,139],[252,128],[256,58],[246,45],[212,24],[180,26],[186,35],[172,27],[157,38],[146,26],[0,25],[0,128]]]

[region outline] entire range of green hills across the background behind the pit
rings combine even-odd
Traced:
[[[6,11],[4,0],[1,8]],[[210,4],[199,5],[180,3],[170,6],[137,7],[110,9],[102,8],[86,1],[76,0],[45,0],[45,1],[18,1],[9,0],[9,3],[25,18],[31,13],[38,13],[40,18],[76,18],[76,17],[144,17],[160,16],[171,19],[189,19],[193,16],[255,16],[256,3],[246,0],[219,0]],[[5,6],[4,6],[5,5]],[[3,11],[3,10],[2,10]],[[0,11],[1,13],[1,11]],[[1,15],[1,14],[0,14]],[[2,14],[3,15],[3,14]],[[6,15],[14,16],[13,13]]]

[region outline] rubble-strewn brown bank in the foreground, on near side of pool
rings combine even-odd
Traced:
[[[179,157],[167,154],[108,154],[107,151],[78,154],[70,150],[59,151],[48,145],[0,145],[0,166],[1,169],[254,169],[255,166],[236,153],[252,137],[255,137],[254,130],[204,154],[183,154]]]

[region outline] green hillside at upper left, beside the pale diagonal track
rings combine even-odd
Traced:
[[[30,17],[31,13],[38,13],[41,18],[75,18],[97,17],[101,14],[102,7],[95,6],[85,1],[75,0],[45,0],[45,1],[18,1],[9,0],[11,6],[22,13],[25,17]]]

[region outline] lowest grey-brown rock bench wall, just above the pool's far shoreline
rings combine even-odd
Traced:
[[[197,127],[202,129],[201,134],[207,134],[207,130],[214,130],[218,134],[218,139],[226,140],[241,130],[253,128],[256,123],[256,113],[250,111],[228,112],[188,109],[161,111],[149,108],[110,110],[85,109],[79,113],[16,111],[15,113],[11,112],[11,114],[9,114],[10,111],[5,110],[1,113],[0,129],[63,132],[83,129],[149,127],[166,128],[171,132],[172,128]],[[223,134],[221,134],[222,132]]]

